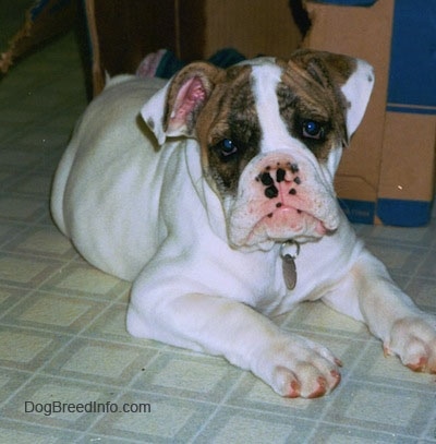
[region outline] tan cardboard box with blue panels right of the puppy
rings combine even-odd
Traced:
[[[338,4],[339,3],[339,4]],[[436,3],[427,0],[307,0],[303,45],[370,61],[376,83],[336,190],[349,218],[421,226],[435,184]]]

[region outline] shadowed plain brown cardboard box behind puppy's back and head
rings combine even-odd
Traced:
[[[86,0],[98,94],[110,75],[134,72],[160,48],[184,61],[235,48],[287,58],[302,36],[288,0]]]

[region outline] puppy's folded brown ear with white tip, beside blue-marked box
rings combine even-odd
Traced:
[[[308,49],[294,52],[290,62],[303,68],[324,87],[340,91],[349,141],[363,119],[373,91],[373,67],[353,57]]]

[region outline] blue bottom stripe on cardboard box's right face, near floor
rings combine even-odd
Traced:
[[[432,202],[379,199],[377,216],[384,225],[421,227],[428,224],[432,217]]]

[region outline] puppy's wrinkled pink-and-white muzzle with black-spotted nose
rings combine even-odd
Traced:
[[[272,153],[242,175],[229,238],[235,247],[261,248],[315,240],[337,230],[339,212],[332,187],[310,160]]]

